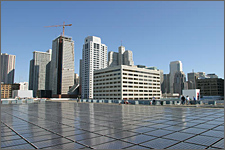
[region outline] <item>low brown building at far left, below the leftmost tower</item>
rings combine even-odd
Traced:
[[[1,98],[12,98],[12,91],[19,89],[20,84],[1,84]]]

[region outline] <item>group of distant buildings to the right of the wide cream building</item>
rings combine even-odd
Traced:
[[[182,71],[181,61],[170,63],[170,73],[164,74],[162,83],[163,96],[179,94],[182,90],[200,89],[201,96],[224,96],[224,79],[218,78],[216,74],[205,74],[205,72],[190,72],[188,80]]]

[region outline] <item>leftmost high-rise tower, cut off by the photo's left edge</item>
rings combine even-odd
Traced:
[[[4,84],[14,83],[15,60],[15,55],[1,53],[1,82]]]

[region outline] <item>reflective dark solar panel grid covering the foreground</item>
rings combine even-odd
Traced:
[[[224,148],[223,109],[47,101],[2,105],[1,122],[3,149]]]

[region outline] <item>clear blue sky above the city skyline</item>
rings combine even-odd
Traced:
[[[224,78],[223,1],[2,1],[1,52],[16,55],[15,82],[29,81],[33,51],[47,51],[62,27],[75,43],[75,72],[82,45],[98,36],[108,51],[121,45],[133,51],[134,64],[169,73],[180,60],[183,71],[216,73]]]

